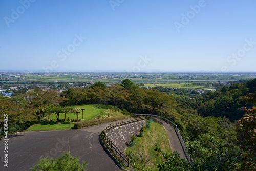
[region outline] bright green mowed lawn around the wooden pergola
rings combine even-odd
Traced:
[[[111,105],[98,105],[98,104],[89,104],[89,105],[77,105],[77,106],[72,106],[73,108],[84,108],[83,110],[83,119],[82,120],[82,111],[80,111],[78,118],[79,120],[86,121],[86,120],[91,120],[94,119],[94,117],[98,114],[101,113],[101,111],[105,111],[110,109],[112,106]],[[39,130],[67,130],[67,129],[72,129],[75,125],[75,121],[71,121],[71,126],[69,127],[69,120],[68,118],[72,119],[77,119],[77,115],[74,113],[67,113],[66,114],[66,121],[60,121],[60,123],[57,123],[57,116],[55,113],[52,113],[51,116],[49,116],[49,119],[52,119],[51,122],[47,121],[41,121],[40,124],[33,125],[29,127],[27,130],[30,131],[39,131]],[[45,117],[47,119],[47,115]],[[59,119],[65,119],[65,114],[61,113],[59,115]]]

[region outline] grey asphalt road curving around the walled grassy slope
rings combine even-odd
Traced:
[[[130,119],[127,119],[130,120]],[[168,123],[154,119],[163,124],[173,151],[184,157],[179,139]],[[99,135],[105,126],[117,123],[105,123],[79,130],[27,131],[14,134],[8,141],[8,167],[4,166],[4,138],[0,139],[0,170],[29,171],[41,156],[60,157],[65,151],[87,161],[88,171],[119,170],[111,157],[99,142]],[[183,153],[183,154],[182,154]]]

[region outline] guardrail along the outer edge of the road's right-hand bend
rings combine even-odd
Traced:
[[[158,118],[162,118],[162,119],[168,121],[169,123],[173,124],[174,127],[175,127],[175,132],[176,132],[176,134],[177,134],[177,136],[178,136],[178,138],[179,138],[179,141],[180,141],[180,143],[181,143],[181,146],[182,146],[182,148],[183,148],[183,151],[184,151],[184,153],[185,153],[185,156],[186,156],[188,162],[190,163],[190,161],[193,161],[193,159],[191,159],[191,156],[189,155],[189,153],[188,153],[188,151],[187,151],[186,145],[185,145],[184,140],[183,140],[183,138],[182,138],[182,136],[181,136],[181,134],[180,134],[180,131],[179,131],[179,129],[178,129],[178,126],[177,126],[174,122],[172,122],[172,121],[170,121],[169,119],[166,119],[166,118],[164,118],[164,117],[162,117],[162,116],[157,116],[157,115],[151,115],[151,114],[134,114],[134,115],[158,117]],[[193,161],[193,162],[194,162],[194,161]]]

